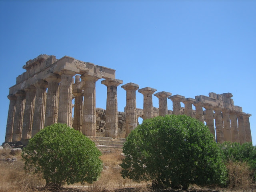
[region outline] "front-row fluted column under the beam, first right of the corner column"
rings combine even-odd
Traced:
[[[96,136],[96,76],[81,75],[84,81],[84,110],[82,133],[87,136]]]

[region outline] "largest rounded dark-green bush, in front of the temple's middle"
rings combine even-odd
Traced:
[[[207,126],[186,115],[147,119],[126,138],[121,174],[154,188],[226,182],[220,149]]]

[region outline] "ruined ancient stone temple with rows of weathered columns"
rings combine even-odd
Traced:
[[[216,142],[252,142],[251,114],[234,105],[231,93],[185,98],[150,87],[139,89],[138,84],[128,82],[121,86],[126,90],[126,107],[124,112],[118,112],[117,87],[123,81],[115,78],[113,69],[69,56],[56,59],[53,55],[40,55],[23,68],[26,72],[17,77],[8,95],[5,142],[27,144],[45,126],[57,122],[89,137],[125,138],[136,128],[139,117],[166,114],[186,114],[206,122]],[[107,87],[106,110],[95,104],[96,81],[100,79]],[[136,108],[136,90],[143,94],[143,109]],[[158,108],[153,107],[153,94],[159,99]],[[173,102],[172,110],[168,110],[167,99]]]

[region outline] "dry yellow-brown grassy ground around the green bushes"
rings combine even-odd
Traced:
[[[14,161],[6,161],[7,158]],[[16,160],[15,160],[16,158]],[[74,184],[64,186],[62,192],[153,192],[150,184],[146,182],[136,183],[129,179],[123,179],[120,175],[119,164],[124,158],[119,151],[105,153],[101,156],[104,163],[101,178],[94,184]],[[0,152],[0,192],[49,192],[42,176],[28,174],[23,170],[24,163],[20,155],[12,156],[5,150]],[[162,190],[164,192],[182,192],[182,190]],[[256,192],[256,189],[236,189],[228,188],[201,188],[192,185],[190,192]]]

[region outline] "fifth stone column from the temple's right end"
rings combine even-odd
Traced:
[[[221,115],[222,108],[215,107],[215,129],[216,129],[216,142],[223,143],[224,140],[224,130],[223,130],[223,121]]]

